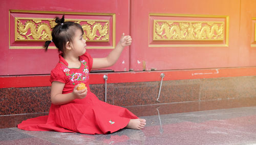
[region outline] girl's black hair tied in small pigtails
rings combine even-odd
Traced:
[[[79,23],[72,21],[65,22],[64,15],[61,19],[59,17],[55,17],[55,22],[57,25],[52,30],[52,41],[46,41],[44,47],[47,51],[49,44],[53,42],[58,48],[58,51],[64,54],[66,50],[66,43],[68,41],[72,42],[75,35],[75,30],[80,29],[82,34],[83,30]]]

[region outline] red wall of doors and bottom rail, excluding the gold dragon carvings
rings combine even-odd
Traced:
[[[112,47],[118,42],[121,33],[132,36],[132,45],[124,49],[114,66],[106,68],[127,72],[109,73],[112,78],[115,78],[112,81],[110,79],[110,82],[159,81],[162,72],[168,74],[165,75],[166,80],[254,76],[256,74],[254,68],[256,65],[256,42],[254,41],[256,10],[253,7],[255,4],[253,0],[75,0],[72,3],[70,1],[34,3],[30,0],[4,0],[1,1],[0,6],[3,16],[0,23],[2,32],[0,53],[3,54],[0,57],[0,76],[3,76],[0,77],[1,87],[48,86],[50,85],[48,74],[58,61],[56,50],[45,53],[42,49],[26,49],[26,46],[41,46],[44,42],[13,42],[14,28],[11,17],[30,14],[34,14],[35,17],[47,17],[65,12],[69,13],[67,16],[70,18],[90,16],[101,19],[106,14],[111,14],[111,18],[115,17],[110,28],[113,33],[109,43],[88,42],[88,45],[92,46],[88,52],[93,57],[104,57],[111,51],[109,48],[93,47],[100,45]],[[23,11],[12,14],[10,10]],[[153,21],[159,19],[222,21],[225,24],[224,38],[217,41],[155,41],[153,40]],[[25,49],[13,49],[15,46],[25,46]],[[26,76],[24,78],[20,75]],[[39,76],[27,78],[31,77],[27,75]],[[92,74],[91,83],[103,83],[103,75]],[[28,79],[34,79],[40,83],[28,81]],[[44,82],[42,83],[44,85],[40,85],[41,82]]]

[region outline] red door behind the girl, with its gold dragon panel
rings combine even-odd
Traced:
[[[52,45],[45,53],[42,45],[50,39],[51,19],[62,14],[67,20],[89,26],[85,30],[87,51],[93,57],[105,57],[122,33],[129,35],[129,4],[129,0],[1,1],[0,75],[49,74],[58,62],[58,52]],[[129,70],[129,56],[126,47],[118,62],[106,69]]]

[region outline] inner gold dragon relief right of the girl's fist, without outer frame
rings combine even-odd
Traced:
[[[223,40],[223,21],[154,20],[153,40]]]

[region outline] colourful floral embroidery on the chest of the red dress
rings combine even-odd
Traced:
[[[79,73],[79,70],[76,72],[71,72],[69,68],[66,68],[67,66],[63,68],[63,71],[65,72],[66,76],[69,76],[70,83],[73,85],[79,84],[81,82],[86,81],[86,79],[89,79],[89,69],[87,62],[85,60],[82,60],[80,62],[84,65],[81,73]]]

